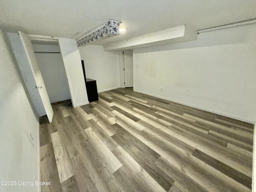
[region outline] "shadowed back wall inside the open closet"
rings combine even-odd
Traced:
[[[58,45],[33,44],[35,52],[60,52]],[[36,60],[44,79],[50,102],[70,99],[68,80],[60,53],[36,53]]]

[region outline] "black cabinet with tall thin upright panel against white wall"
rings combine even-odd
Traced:
[[[85,82],[85,86],[86,86],[86,90],[87,90],[88,100],[89,100],[89,102],[98,101],[99,98],[98,98],[98,90],[97,90],[96,80],[86,78],[83,60],[82,60],[82,68],[83,68],[83,72],[84,72],[84,82]]]

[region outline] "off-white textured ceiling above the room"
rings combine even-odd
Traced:
[[[106,45],[190,24],[197,30],[256,18],[256,0],[0,0],[0,27],[9,32],[76,38],[108,19],[122,22]]]

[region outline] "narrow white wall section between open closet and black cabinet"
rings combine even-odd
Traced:
[[[58,42],[68,78],[72,104],[74,107],[89,104],[80,52],[76,46],[76,40],[59,38]]]

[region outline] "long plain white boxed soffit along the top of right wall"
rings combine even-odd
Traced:
[[[158,46],[197,39],[197,31],[189,25],[162,30],[159,32],[139,36],[130,40],[104,46],[105,51],[129,50],[142,47]]]

